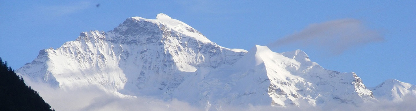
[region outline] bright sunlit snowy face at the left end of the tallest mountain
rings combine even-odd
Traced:
[[[108,89],[120,89],[127,79],[117,67],[111,47],[105,41],[104,32],[82,32],[75,41],[57,49],[41,50],[33,62],[16,72],[52,86],[102,84]]]

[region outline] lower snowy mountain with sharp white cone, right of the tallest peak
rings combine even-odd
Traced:
[[[197,93],[206,101],[273,106],[374,101],[355,73],[323,69],[300,50],[275,53],[256,45],[235,64],[205,73]]]

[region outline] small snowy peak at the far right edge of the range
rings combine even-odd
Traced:
[[[400,102],[405,96],[416,96],[416,85],[396,79],[388,79],[376,87],[370,88],[377,99]]]

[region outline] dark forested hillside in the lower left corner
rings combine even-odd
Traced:
[[[0,58],[0,111],[54,111]]]

